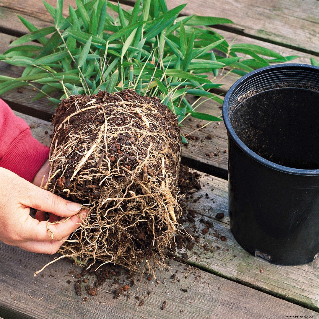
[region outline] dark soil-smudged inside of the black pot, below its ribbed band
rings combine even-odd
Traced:
[[[250,150],[271,162],[319,169],[319,92],[281,87],[250,94],[231,114],[231,124]]]

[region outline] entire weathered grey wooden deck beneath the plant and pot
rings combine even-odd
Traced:
[[[56,1],[47,2],[55,5]],[[65,0],[66,10],[67,3],[75,1]],[[180,3],[186,1],[167,0],[170,8]],[[0,53],[16,36],[26,33],[16,13],[39,27],[46,26],[50,19],[41,1],[0,0]],[[319,60],[318,0],[189,0],[183,13],[232,19],[234,25],[217,26],[229,41],[259,44],[283,55],[299,56],[293,62],[310,64],[311,57]],[[1,75],[20,72],[18,67],[0,63]],[[223,79],[224,92],[236,79],[235,75]],[[36,138],[49,145],[53,111],[46,100],[31,103],[34,94],[23,88],[22,93],[12,91],[1,98],[30,124]],[[214,115],[221,112],[212,101],[202,108]],[[133,281],[117,267],[116,274],[98,288],[98,294],[91,296],[83,291],[78,296],[74,284],[80,267],[62,259],[33,277],[34,271],[53,256],[25,252],[0,242],[0,319],[319,317],[319,259],[301,266],[273,265],[250,256],[234,240],[227,208],[226,129],[220,123],[197,130],[199,122],[187,121],[183,128],[183,133],[199,139],[183,147],[182,161],[202,172],[202,189],[187,202],[187,210],[196,212],[190,226],[199,242],[191,251],[178,251],[180,255],[187,253],[186,264],[170,261],[166,271],[156,271],[156,279],[135,274]],[[212,139],[206,139],[208,135]],[[217,149],[221,150],[219,156],[213,156]],[[225,217],[218,220],[215,216],[220,212]],[[205,227],[208,232],[203,234]],[[93,286],[93,276],[83,278]],[[125,284],[130,289],[114,298],[114,289]]]

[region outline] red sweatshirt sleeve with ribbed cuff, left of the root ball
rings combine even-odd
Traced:
[[[0,99],[0,167],[32,182],[48,156],[49,148],[36,140],[29,125]]]

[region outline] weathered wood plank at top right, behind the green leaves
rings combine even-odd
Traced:
[[[182,11],[185,15],[213,15],[231,19],[235,28],[232,30],[231,26],[227,26],[226,29],[235,33],[319,55],[317,0],[169,0],[167,6],[172,9],[182,3],[188,3]],[[223,26],[221,28],[225,29]]]

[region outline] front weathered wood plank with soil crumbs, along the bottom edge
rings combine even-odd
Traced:
[[[147,280],[148,275],[141,280],[141,275],[135,274],[129,291],[114,299],[115,288],[130,285],[130,279],[120,267],[116,270],[121,271],[121,275],[107,280],[97,295],[83,292],[78,296],[74,283],[78,280],[75,274],[81,268],[67,260],[53,263],[42,276],[34,278],[34,270],[52,260],[52,256],[36,255],[0,243],[0,258],[0,315],[5,319],[253,319],[315,315],[309,309],[174,261],[167,271],[155,271],[157,281]],[[70,274],[70,270],[75,274]],[[85,278],[94,285],[93,277]],[[135,299],[136,296],[139,299]],[[84,301],[84,297],[88,300]],[[139,306],[142,299],[144,305]],[[162,310],[164,301],[166,306]]]

